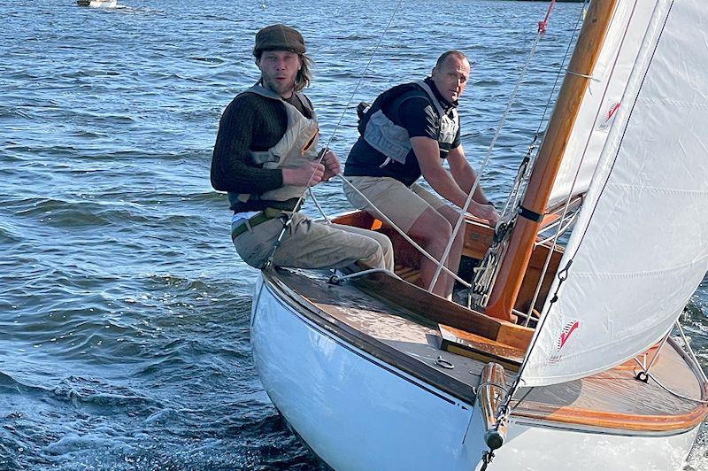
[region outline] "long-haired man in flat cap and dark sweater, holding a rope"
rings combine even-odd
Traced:
[[[334,152],[319,158],[317,116],[301,90],[311,80],[303,36],[285,25],[258,31],[253,48],[260,79],[221,116],[212,156],[212,186],[228,192],[231,238],[250,266],[262,268],[283,224],[290,224],[273,265],[340,268],[358,263],[393,269],[389,238],[298,212],[308,186],[340,173]]]

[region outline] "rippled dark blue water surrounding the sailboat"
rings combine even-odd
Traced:
[[[365,6],[366,5],[366,6]],[[463,143],[479,167],[547,4],[404,2],[353,103],[473,58]],[[0,4],[0,469],[309,469],[250,358],[250,287],[209,164],[221,110],[257,78],[259,27],[301,28],[328,139],[394,2]],[[578,4],[558,4],[484,186],[510,189]],[[454,12],[443,15],[441,12]],[[345,156],[350,110],[332,148]],[[348,209],[336,184],[325,210]],[[312,206],[312,205],[311,205]],[[708,282],[684,325],[708,358]],[[689,468],[705,468],[704,436]]]

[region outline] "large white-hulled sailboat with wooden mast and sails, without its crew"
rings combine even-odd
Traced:
[[[333,222],[389,235],[396,274],[261,272],[253,358],[312,452],[338,470],[681,468],[708,414],[678,323],[708,270],[706,24],[701,0],[590,4],[511,216],[464,221],[468,305],[419,287],[419,251],[365,212]]]

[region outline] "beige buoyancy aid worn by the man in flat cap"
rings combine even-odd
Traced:
[[[280,95],[270,89],[254,85],[246,90],[261,97],[279,100],[285,105],[288,115],[288,127],[285,134],[273,147],[267,151],[250,151],[250,158],[253,163],[263,168],[296,168],[305,163],[318,158],[317,142],[319,138],[319,126],[317,115],[312,110],[309,100],[299,92],[293,92],[305,108],[310,112],[311,118],[306,118],[295,106],[282,99]],[[229,192],[228,199],[231,205],[244,203],[246,201],[258,201],[262,206],[273,206],[292,211],[295,209],[282,207],[283,202],[296,199],[303,194],[305,187],[294,185],[283,185],[279,189],[271,189],[260,195],[248,193]],[[293,203],[293,206],[295,204]]]

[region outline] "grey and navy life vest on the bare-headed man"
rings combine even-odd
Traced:
[[[386,160],[379,166],[385,166],[391,161],[405,164],[406,156],[411,151],[411,139],[404,127],[396,125],[392,117],[386,115],[383,107],[398,97],[407,94],[405,101],[424,97],[433,105],[437,113],[440,127],[438,129],[438,143],[451,144],[459,129],[459,115],[455,107],[445,112],[443,104],[435,97],[435,93],[425,81],[404,83],[382,93],[373,102],[371,107],[360,113],[358,125],[359,134],[376,151],[386,156]],[[400,104],[399,104],[400,105]]]

